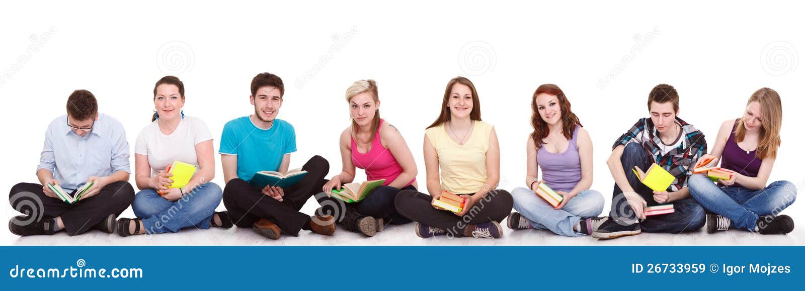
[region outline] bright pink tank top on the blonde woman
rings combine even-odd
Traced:
[[[386,179],[383,185],[389,185],[394,182],[394,179],[403,173],[403,167],[394,158],[389,149],[383,148],[380,143],[380,129],[383,126],[383,120],[380,120],[378,132],[374,133],[374,140],[372,140],[372,148],[366,154],[361,154],[357,151],[355,139],[350,137],[349,150],[352,153],[353,165],[366,171],[366,180],[379,180]],[[408,182],[408,185],[413,184],[416,178]]]

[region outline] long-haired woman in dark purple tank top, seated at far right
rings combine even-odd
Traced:
[[[721,168],[732,171],[729,180],[718,185],[706,173],[688,180],[691,196],[708,211],[709,233],[743,228],[761,234],[786,234],[794,230],[794,220],[780,211],[794,203],[796,186],[777,181],[766,186],[780,146],[782,104],[770,88],[755,91],[746,104],[744,116],[724,121],[709,158],[720,159]]]

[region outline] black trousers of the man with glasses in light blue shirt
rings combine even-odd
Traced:
[[[61,216],[64,230],[70,236],[80,235],[106,216],[120,215],[134,201],[134,188],[129,182],[118,181],[104,186],[98,194],[68,204],[58,198],[47,197],[42,185],[19,183],[11,187],[9,203],[16,211],[40,217]]]

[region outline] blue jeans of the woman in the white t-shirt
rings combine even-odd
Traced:
[[[215,207],[224,192],[216,183],[196,186],[192,192],[176,201],[167,201],[155,190],[146,189],[134,195],[134,215],[142,218],[148,233],[179,232],[184,227],[209,228]]]

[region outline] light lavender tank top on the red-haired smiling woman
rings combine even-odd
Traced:
[[[545,150],[545,146],[537,150],[539,169],[543,171],[543,181],[554,191],[570,192],[581,181],[581,160],[576,137],[579,125],[573,130],[573,137],[564,153],[553,154]]]

